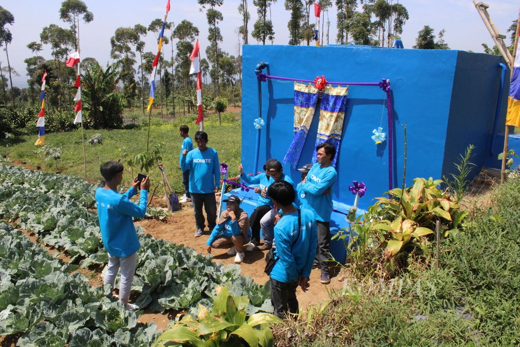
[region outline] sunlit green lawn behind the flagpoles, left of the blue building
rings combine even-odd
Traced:
[[[226,162],[229,165],[229,174],[236,175],[238,174],[237,167],[240,163],[242,131],[240,120],[237,120],[232,113],[230,114],[232,117],[228,115],[225,118],[226,122],[223,122],[222,125],[218,125],[218,118],[212,115],[210,119],[204,121],[204,131],[208,134],[208,146],[218,151],[220,162]],[[172,189],[177,193],[184,192],[182,175],[179,169],[179,153],[182,138],[179,136],[178,127],[181,124],[189,124],[190,136],[193,138],[195,132],[199,129],[199,126],[194,124],[193,117],[193,115],[186,115],[186,117],[176,118],[173,122],[152,118],[150,149],[153,149],[153,146],[159,142],[164,143],[161,153],[162,163],[166,170],[166,175],[172,184]],[[156,125],[154,125],[154,122]],[[146,126],[126,130],[85,130],[86,139],[96,133],[101,134],[103,139],[103,145],[97,146],[87,145],[85,140],[87,178],[93,180],[101,179],[99,173],[100,163],[108,160],[118,160],[118,149],[120,148],[126,148],[126,152],[132,153],[134,156],[146,151],[147,132]],[[43,159],[35,152],[38,149],[38,147],[34,146],[36,137],[37,135],[22,135],[17,137],[16,142],[8,147],[6,147],[6,143],[3,143],[3,146],[0,147],[0,155],[8,155],[11,160],[23,160],[29,165],[40,165],[43,168]],[[60,160],[56,162],[53,160],[47,161],[48,172],[59,169],[64,174],[83,177],[81,129],[76,129],[72,132],[47,134],[45,143],[51,147],[61,147],[62,153]],[[128,184],[132,175],[129,168],[126,169],[128,170],[125,171],[123,182]],[[137,175],[138,170],[139,168],[133,168],[133,174]],[[152,179],[152,187],[161,182],[159,169],[150,170],[150,177]],[[156,194],[162,195],[162,189],[157,189]]]

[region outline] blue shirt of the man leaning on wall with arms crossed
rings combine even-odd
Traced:
[[[323,192],[328,188],[332,190],[336,178],[334,166],[322,168],[320,163],[315,163],[309,170],[305,183],[301,185],[306,192],[307,208],[314,212],[317,221],[330,222],[332,191],[327,195],[323,195]]]

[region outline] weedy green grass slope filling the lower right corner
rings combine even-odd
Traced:
[[[409,259],[392,280],[352,280],[325,307],[275,332],[287,346],[518,345],[520,179],[475,207],[457,238],[443,239],[440,268]]]

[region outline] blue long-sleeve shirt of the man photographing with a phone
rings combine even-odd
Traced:
[[[125,194],[104,188],[96,190],[101,238],[108,254],[112,256],[125,258],[137,252],[140,247],[132,217],[145,216],[148,191],[141,190],[138,204],[130,201],[136,194],[133,187]]]

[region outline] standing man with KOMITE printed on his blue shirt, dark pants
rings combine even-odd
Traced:
[[[195,237],[202,236],[204,231],[204,215],[202,205],[206,211],[207,226],[213,230],[217,219],[215,193],[220,183],[220,163],[215,149],[207,147],[207,134],[203,131],[195,133],[197,148],[188,152],[183,150],[180,158],[180,167],[190,171],[189,191],[195,215]]]

